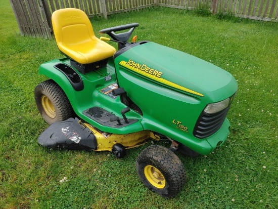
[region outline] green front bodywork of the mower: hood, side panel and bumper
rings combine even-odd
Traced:
[[[203,96],[166,86],[119,64],[122,61],[130,63],[130,60],[133,64],[145,64],[158,70],[163,73],[161,78]],[[117,56],[115,68],[119,86],[143,112],[145,130],[170,137],[200,154],[210,153],[219,141],[226,140],[228,120],[206,139],[194,137],[193,130],[207,104],[222,101],[237,91],[237,82],[230,73],[192,55],[152,42]]]

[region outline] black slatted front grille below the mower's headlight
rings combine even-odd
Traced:
[[[193,135],[203,139],[217,132],[226,118],[229,107],[230,105],[220,112],[213,114],[208,114],[203,111],[196,122]]]

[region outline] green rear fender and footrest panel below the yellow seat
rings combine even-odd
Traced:
[[[70,61],[68,58],[52,60],[40,65],[39,74],[46,75],[49,78],[53,79],[56,83],[58,83],[58,85],[63,89],[63,91],[67,95],[73,107],[73,110],[78,115],[78,117],[82,118],[86,122],[92,124],[92,126],[95,126],[104,132],[113,134],[129,134],[143,130],[143,127],[139,121],[134,124],[131,124],[128,127],[115,129],[102,126],[100,123],[92,120],[91,118],[87,117],[82,113],[84,110],[90,107],[97,106],[103,107],[107,111],[113,112],[116,116],[122,117],[120,112],[123,108],[126,107],[126,105],[121,103],[120,97],[112,99],[111,97],[100,92],[100,90],[112,85],[113,83],[117,83],[112,58],[109,60],[106,67],[103,67],[98,71],[92,71],[86,74],[82,74],[76,70],[77,73],[81,76],[81,79],[84,83],[84,89],[82,91],[75,91],[72,88],[67,77],[61,71],[54,67],[59,63],[64,63],[70,66]],[[105,81],[105,76],[107,75],[111,75],[112,79],[109,81]],[[142,116],[133,110],[126,113],[126,116],[128,118],[134,118],[139,120],[142,119]]]

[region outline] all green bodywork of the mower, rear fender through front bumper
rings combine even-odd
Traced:
[[[200,154],[209,154],[220,141],[226,140],[229,133],[227,119],[216,133],[205,139],[193,136],[193,130],[207,104],[222,101],[237,91],[237,82],[230,73],[194,56],[152,42],[119,50],[115,55],[114,63],[110,58],[108,65],[98,71],[78,72],[84,83],[82,91],[73,90],[66,76],[54,67],[58,63],[70,65],[67,58],[42,64],[39,73],[58,83],[80,118],[104,132],[129,134],[150,130]],[[126,67],[130,60],[131,64],[138,63],[137,66],[134,64],[138,69],[140,65],[152,69],[149,72],[155,72],[157,79],[131,70],[131,65]],[[112,79],[105,81],[107,75],[111,75]],[[120,129],[102,126],[82,113],[90,107],[99,106],[122,117],[120,112],[126,105],[120,97],[113,99],[100,92],[113,83],[124,88],[127,96],[143,113],[131,109],[126,117],[138,121]]]

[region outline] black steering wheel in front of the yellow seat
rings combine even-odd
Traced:
[[[114,40],[126,42],[130,38],[135,27],[138,27],[138,26],[139,26],[139,23],[131,23],[131,24],[120,25],[120,26],[116,26],[116,27],[102,29],[99,32],[100,32],[100,34],[105,34],[105,33],[108,34]],[[129,29],[129,31],[118,33],[118,34],[115,33],[117,31],[122,31],[122,30],[126,30],[126,29]]]

